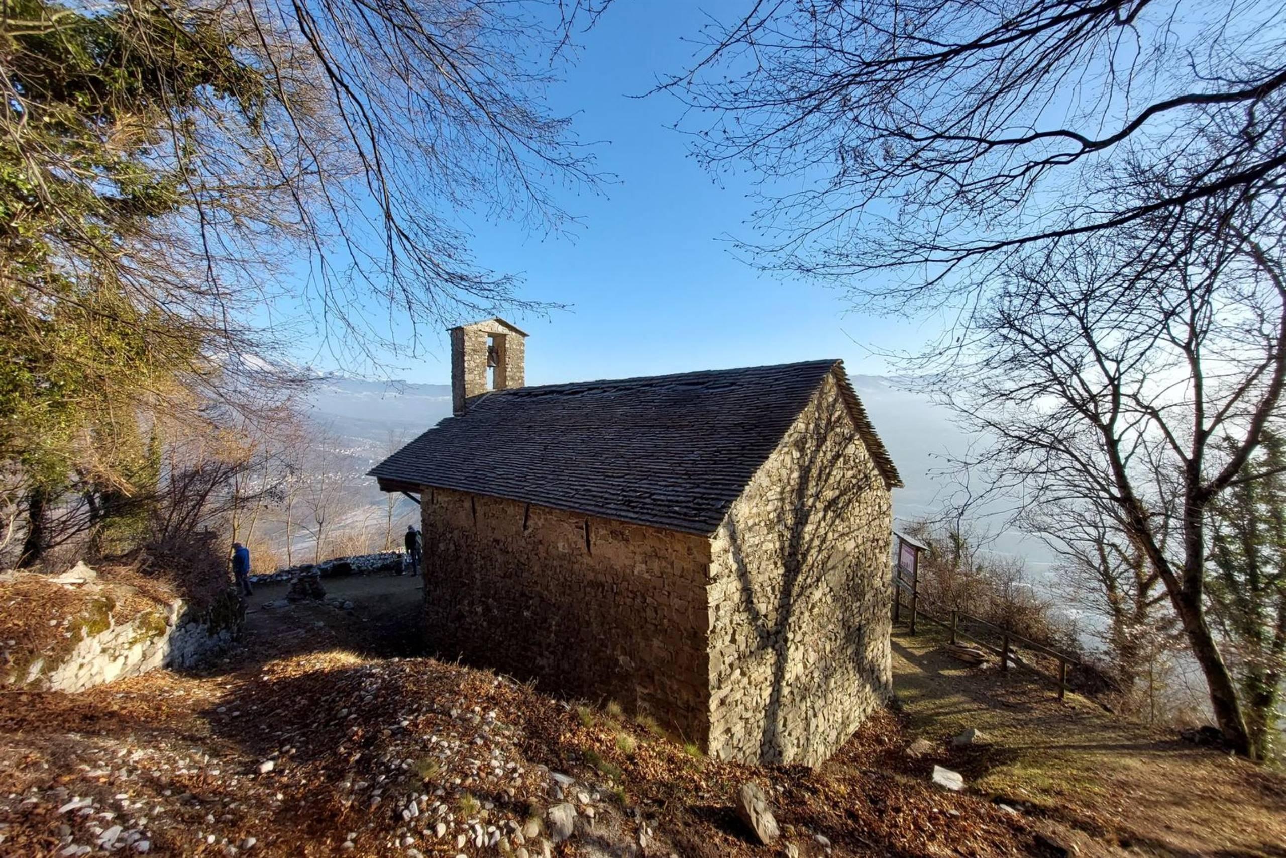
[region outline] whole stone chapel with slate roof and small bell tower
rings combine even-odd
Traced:
[[[454,415],[370,471],[421,500],[442,657],[815,765],[890,693],[898,471],[838,360],[527,387],[453,328]]]

